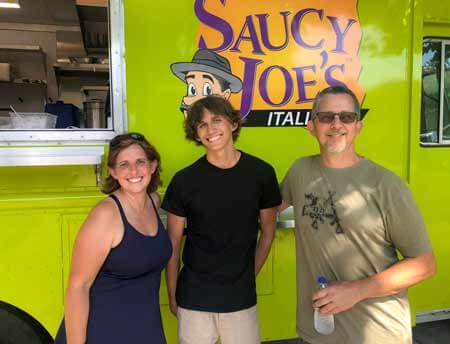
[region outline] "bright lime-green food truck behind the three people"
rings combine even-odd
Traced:
[[[355,92],[365,113],[358,151],[408,183],[436,255],[435,277],[410,289],[413,322],[450,318],[450,2],[0,6],[1,343],[52,341],[74,238],[105,197],[111,138],[138,131],[150,139],[162,157],[161,194],[203,154],[184,138],[183,111],[211,85],[197,90],[171,69],[199,49],[222,56],[242,80],[222,90],[245,120],[237,145],[270,162],[279,180],[318,151],[304,129],[315,94],[329,85]],[[293,226],[289,212],[280,216],[257,279],[263,340],[296,337]],[[160,298],[167,340],[176,343],[164,278]]]

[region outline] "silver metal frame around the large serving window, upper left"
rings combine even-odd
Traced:
[[[104,144],[127,130],[123,0],[109,0],[110,97],[113,129],[1,130],[0,146]]]

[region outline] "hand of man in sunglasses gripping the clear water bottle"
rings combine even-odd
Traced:
[[[313,295],[313,307],[320,308],[322,314],[337,314],[352,308],[361,301],[361,281],[332,282]]]

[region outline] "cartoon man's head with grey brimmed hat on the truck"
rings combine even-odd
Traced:
[[[212,50],[197,50],[191,62],[176,62],[170,68],[187,85],[180,106],[185,117],[189,106],[203,97],[217,95],[228,100],[231,93],[242,89],[242,81],[231,72],[228,59]]]

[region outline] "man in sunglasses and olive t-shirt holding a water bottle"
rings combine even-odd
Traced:
[[[355,151],[362,126],[352,91],[320,92],[307,124],[320,155],[297,160],[282,184],[282,208],[294,206],[297,331],[307,343],[411,343],[406,289],[435,272],[410,191]],[[320,275],[331,283],[318,290]],[[314,308],[334,315],[331,335],[315,331]]]

